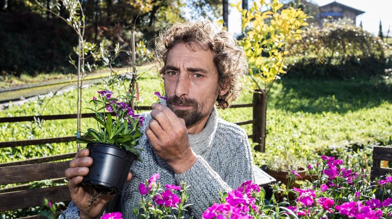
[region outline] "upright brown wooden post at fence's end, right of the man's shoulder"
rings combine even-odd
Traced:
[[[260,92],[253,93],[253,142],[257,143],[255,150],[265,152],[265,147],[261,144],[262,133],[262,121],[263,121],[263,110],[262,110],[263,95]]]

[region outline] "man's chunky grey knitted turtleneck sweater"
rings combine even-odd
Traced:
[[[164,101],[161,102],[166,105]],[[150,112],[142,113],[145,117],[143,127],[149,124]],[[133,219],[135,206],[139,206],[141,195],[138,185],[154,173],[160,174],[161,185],[186,182],[190,186],[188,203],[192,203],[190,214],[201,218],[201,214],[211,203],[219,198],[218,191],[230,191],[244,181],[254,180],[252,154],[247,134],[238,125],[218,118],[216,108],[212,110],[207,124],[198,134],[189,135],[192,150],[198,155],[196,163],[183,174],[175,174],[173,169],[152,149],[145,135],[139,139],[143,162],[135,161],[132,165],[132,179],[125,184],[121,195],[109,203],[104,212],[120,211],[124,219]],[[114,167],[115,168],[115,167]],[[79,219],[79,210],[71,202],[65,210],[66,218]]]

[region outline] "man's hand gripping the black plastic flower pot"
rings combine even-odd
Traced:
[[[65,170],[65,177],[68,180],[69,193],[71,199],[80,210],[80,217],[82,219],[98,218],[102,215],[103,208],[111,201],[115,195],[100,195],[93,205],[89,206],[91,194],[85,190],[81,183],[83,176],[89,173],[89,168],[93,164],[93,158],[89,157],[89,149],[84,148],[76,153],[75,158],[69,163],[68,169]],[[132,174],[129,173],[127,181],[132,179]]]

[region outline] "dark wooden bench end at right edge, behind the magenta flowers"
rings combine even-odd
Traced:
[[[392,161],[392,147],[373,147],[373,165],[371,179],[392,173],[392,168],[382,167],[381,161]]]

